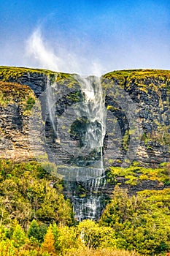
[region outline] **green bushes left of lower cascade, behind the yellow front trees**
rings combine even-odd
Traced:
[[[37,162],[0,161],[0,223],[17,219],[27,229],[32,219],[72,225],[72,208],[64,200],[61,180],[50,176]],[[54,182],[54,188],[50,186]]]

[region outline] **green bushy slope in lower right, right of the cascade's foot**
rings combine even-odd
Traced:
[[[154,197],[155,195],[155,197]],[[161,255],[170,249],[170,189],[143,192],[129,197],[115,187],[113,198],[101,217],[100,225],[115,230],[117,247],[135,249],[143,255]]]

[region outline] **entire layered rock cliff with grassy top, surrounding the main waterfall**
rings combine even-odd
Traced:
[[[130,194],[169,187],[170,71],[110,72],[101,86],[107,113],[103,147],[99,154],[80,155],[89,120],[72,111],[85,97],[77,76],[0,67],[0,159],[36,158],[54,175],[50,162],[55,163],[68,179],[63,193],[80,220],[101,216],[115,184]],[[100,124],[94,125],[98,132]],[[105,173],[96,165],[101,155]],[[96,178],[85,180],[95,172]]]

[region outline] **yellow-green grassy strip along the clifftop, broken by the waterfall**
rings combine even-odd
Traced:
[[[38,75],[44,75],[56,80],[61,84],[67,86],[74,86],[76,83],[74,79],[75,74],[54,72],[48,69],[34,69],[26,67],[6,67],[0,66],[0,80],[8,82],[18,82],[22,78],[29,77],[35,78]],[[115,70],[101,76],[103,86],[107,86],[108,80],[116,80],[117,83],[125,86],[126,89],[131,88],[131,84],[135,83],[136,86],[146,93],[148,89],[158,91],[158,88],[169,89],[170,83],[170,70],[161,69],[125,69]]]

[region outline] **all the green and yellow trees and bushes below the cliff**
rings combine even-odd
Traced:
[[[0,170],[2,256],[138,256],[170,251],[170,189],[130,197],[115,187],[99,222],[77,223],[63,197],[61,180],[37,162],[1,160]]]

